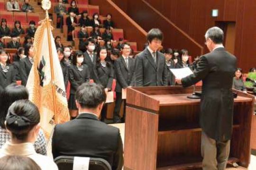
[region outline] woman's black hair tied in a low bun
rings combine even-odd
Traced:
[[[26,141],[30,130],[40,122],[40,113],[37,106],[29,100],[13,102],[6,115],[6,128],[12,138]]]

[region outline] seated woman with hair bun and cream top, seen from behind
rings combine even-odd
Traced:
[[[37,106],[29,100],[18,100],[9,107],[6,128],[11,140],[0,150],[0,157],[6,155],[26,155],[33,159],[42,170],[58,170],[55,162],[48,156],[36,153],[33,143],[40,130],[40,113]]]

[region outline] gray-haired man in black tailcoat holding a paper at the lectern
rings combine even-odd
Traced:
[[[203,170],[225,170],[232,136],[232,81],[237,59],[223,46],[223,31],[212,27],[205,34],[210,53],[202,55],[195,72],[177,79],[183,87],[202,80],[200,125]]]

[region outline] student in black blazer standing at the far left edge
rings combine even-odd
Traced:
[[[0,49],[0,86],[4,89],[11,83],[16,83],[15,70],[8,64],[8,55],[4,49]]]

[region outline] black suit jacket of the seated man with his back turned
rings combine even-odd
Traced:
[[[117,127],[109,126],[90,113],[55,126],[53,157],[98,157],[108,161],[112,170],[122,170],[123,144]]]

